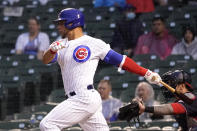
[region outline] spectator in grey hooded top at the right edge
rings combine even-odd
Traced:
[[[173,47],[171,54],[186,54],[197,60],[197,37],[195,37],[195,31],[193,27],[187,26],[184,29],[182,41]]]

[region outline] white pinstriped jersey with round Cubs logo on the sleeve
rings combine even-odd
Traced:
[[[87,90],[87,85],[93,84],[99,60],[103,60],[111,48],[102,40],[87,35],[65,44],[66,48],[58,51],[57,59],[65,92]]]

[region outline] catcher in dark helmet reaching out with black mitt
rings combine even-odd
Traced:
[[[175,119],[183,131],[197,130],[197,97],[192,93],[192,79],[189,73],[183,70],[169,71],[162,75],[163,82],[173,87],[177,92],[184,94],[192,100],[187,103],[179,99],[175,94],[168,91],[164,92],[164,97],[175,97],[174,103],[163,104],[158,106],[144,106],[140,99],[134,99],[132,102],[120,108],[119,119],[130,121],[143,112],[153,113],[155,115],[175,115]],[[165,87],[162,87],[165,88]]]

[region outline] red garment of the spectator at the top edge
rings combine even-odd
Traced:
[[[136,7],[135,13],[148,13],[155,10],[153,0],[126,0],[126,3]]]

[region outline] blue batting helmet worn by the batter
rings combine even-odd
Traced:
[[[59,15],[58,19],[54,20],[54,22],[65,20],[65,27],[69,30],[72,30],[76,27],[84,26],[84,15],[81,11],[74,8],[66,8],[63,9]]]

